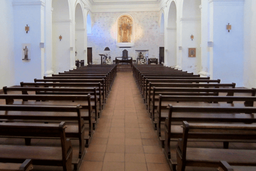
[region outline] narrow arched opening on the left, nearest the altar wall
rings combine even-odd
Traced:
[[[75,8],[75,60],[84,59],[84,18],[81,5],[77,3]]]

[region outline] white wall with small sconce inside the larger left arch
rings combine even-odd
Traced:
[[[52,0],[52,71],[67,71],[70,64],[70,30],[68,0]],[[62,39],[60,39],[62,38]]]

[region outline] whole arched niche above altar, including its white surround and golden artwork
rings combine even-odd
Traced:
[[[129,14],[122,14],[117,18],[117,47],[134,46],[134,19]]]

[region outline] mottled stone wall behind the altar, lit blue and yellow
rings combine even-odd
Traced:
[[[134,47],[120,48],[116,47],[118,42],[122,42],[118,33],[117,19],[121,15],[128,14],[134,20],[133,27],[129,27],[127,35],[133,35],[134,40],[127,38],[127,42],[134,42]],[[137,49],[148,49],[149,58],[159,58],[159,47],[164,47],[164,34],[160,34],[160,12],[106,12],[92,13],[92,34],[87,37],[87,46],[92,47],[93,64],[100,64],[99,54],[110,52],[112,60],[115,57],[122,56],[124,49],[128,50],[128,56],[136,59]],[[127,28],[127,27],[126,27]],[[134,30],[134,33],[132,32]],[[119,30],[120,31],[120,30]],[[121,30],[123,31],[123,30]],[[123,32],[122,32],[123,33]],[[105,51],[109,47],[110,51]]]

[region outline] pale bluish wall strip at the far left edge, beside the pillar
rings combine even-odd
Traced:
[[[13,10],[11,0],[0,0],[0,89],[15,85]]]

